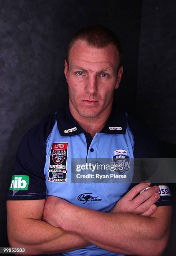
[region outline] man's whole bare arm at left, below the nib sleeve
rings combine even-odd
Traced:
[[[45,200],[8,200],[8,239],[11,247],[25,248],[27,255],[53,254],[88,246],[74,233],[41,220]]]

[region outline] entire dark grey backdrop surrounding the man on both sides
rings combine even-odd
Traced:
[[[174,0],[0,0],[0,246],[8,245],[5,197],[18,144],[44,115],[65,103],[68,40],[93,23],[111,28],[123,44],[124,74],[115,95],[119,107],[151,128],[165,157],[175,157]],[[172,225],[165,255],[176,249],[174,220]]]

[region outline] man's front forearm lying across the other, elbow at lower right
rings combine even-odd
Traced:
[[[162,248],[162,238],[155,228],[156,218],[131,213],[102,213],[76,207],[74,221],[67,221],[66,218],[63,229],[77,233],[101,248],[140,255],[156,252],[156,246]]]

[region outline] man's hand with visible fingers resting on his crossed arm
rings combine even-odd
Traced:
[[[160,197],[158,193],[159,187],[154,186],[146,189],[149,185],[150,183],[143,182],[130,189],[130,191],[116,203],[110,212],[128,212],[149,217],[156,211],[157,206],[154,204]],[[139,194],[143,189],[146,190]]]

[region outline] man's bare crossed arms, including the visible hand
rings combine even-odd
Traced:
[[[161,255],[168,241],[172,210],[171,206],[156,205],[152,209],[159,198],[154,187],[138,195],[148,186],[141,183],[133,187],[108,213],[53,196],[46,202],[8,201],[10,245],[25,247],[26,255],[73,251],[91,243],[116,253]]]

